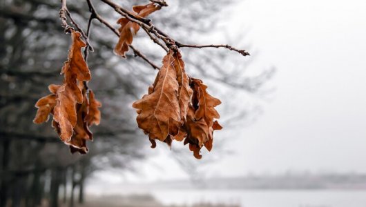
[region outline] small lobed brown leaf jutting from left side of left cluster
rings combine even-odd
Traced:
[[[56,93],[59,87],[59,85],[55,84],[48,86],[48,90],[50,90],[52,94],[41,97],[35,104],[35,107],[38,108],[35,119],[33,119],[35,124],[41,124],[48,121],[50,114],[53,113],[53,108],[56,106]]]

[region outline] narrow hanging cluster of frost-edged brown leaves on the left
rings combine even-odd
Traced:
[[[95,99],[92,90],[86,88],[90,81],[90,70],[81,55],[81,48],[86,44],[80,39],[79,32],[72,32],[72,46],[68,53],[68,61],[64,63],[61,74],[64,74],[62,85],[48,86],[51,94],[42,97],[35,106],[38,108],[36,124],[48,121],[53,115],[52,127],[55,128],[61,141],[70,146],[71,152],[88,152],[86,140],[93,140],[89,130],[92,124],[100,122],[99,107],[102,104]],[[87,95],[88,94],[88,95]]]

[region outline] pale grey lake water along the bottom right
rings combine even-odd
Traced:
[[[361,190],[154,190],[163,204],[240,204],[242,207],[366,207]]]

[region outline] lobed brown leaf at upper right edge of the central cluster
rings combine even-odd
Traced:
[[[207,86],[202,83],[200,79],[191,79],[193,83],[193,91],[195,95],[195,99],[198,99],[198,104],[195,106],[197,108],[195,110],[195,119],[200,120],[204,119],[206,121],[208,126],[213,125],[213,119],[220,118],[220,115],[217,110],[215,110],[215,106],[220,105],[221,101],[219,99],[216,99],[215,97],[212,97],[209,95],[208,92],[206,92]]]

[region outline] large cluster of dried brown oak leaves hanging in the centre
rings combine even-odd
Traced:
[[[180,52],[170,50],[162,63],[148,94],[133,103],[137,124],[148,135],[152,148],[155,139],[169,146],[173,140],[184,140],[200,159],[203,146],[212,149],[213,130],[222,129],[214,121],[220,118],[215,106],[221,101],[209,95],[200,79],[186,75]]]

